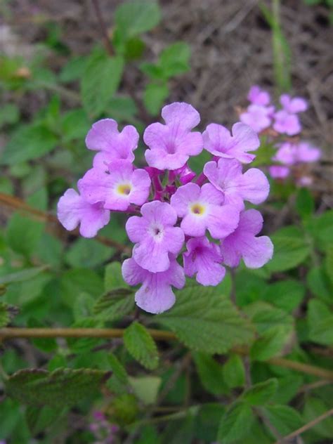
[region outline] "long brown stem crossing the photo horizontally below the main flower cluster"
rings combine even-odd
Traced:
[[[13,339],[13,338],[121,338],[124,335],[124,329],[122,328],[20,328],[20,327],[6,327],[0,328],[0,341],[1,339]],[[148,329],[148,332],[154,339],[161,341],[174,341],[177,340],[176,334],[173,332],[167,332],[166,330]],[[235,347],[233,348],[235,353],[244,355],[247,353],[245,348]],[[313,374],[316,377],[328,379],[333,381],[333,372],[330,370],[315,367],[314,365],[308,365],[303,363],[297,363],[296,361],[288,360],[285,358],[270,358],[268,361],[271,365],[278,365],[279,367],[286,367],[297,372],[306,374]]]

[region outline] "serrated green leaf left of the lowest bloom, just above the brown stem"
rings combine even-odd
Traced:
[[[99,319],[112,321],[124,318],[134,308],[133,290],[115,288],[100,296],[93,307],[93,313]]]

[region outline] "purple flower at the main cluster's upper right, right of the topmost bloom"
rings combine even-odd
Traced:
[[[210,124],[202,134],[204,148],[214,156],[237,159],[249,164],[256,157],[248,151],[256,150],[260,141],[256,133],[248,125],[237,122],[232,128],[233,135],[222,125]]]

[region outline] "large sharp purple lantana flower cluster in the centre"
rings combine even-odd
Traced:
[[[192,131],[200,115],[188,103],[165,106],[162,118],[164,124],[144,131],[144,168],[133,164],[139,141],[133,126],[119,131],[113,119],[93,124],[86,136],[87,148],[97,152],[93,167],[78,181],[78,192],[67,190],[58,203],[63,226],[79,226],[84,237],[95,236],[112,211],[129,214],[126,233],[134,247],[122,275],[141,286],[136,303],[150,313],[174,305],[173,287],[184,287],[185,276],[215,286],[226,266],[243,259],[259,268],[273,255],[269,237],[257,236],[261,214],[245,207],[260,204],[269,192],[263,172],[247,167],[255,158],[250,152],[259,148],[256,132],[242,122],[231,133],[219,124]],[[211,160],[197,176],[188,159],[204,149]]]

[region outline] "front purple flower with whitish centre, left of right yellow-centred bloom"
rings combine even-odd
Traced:
[[[174,227],[176,211],[166,202],[157,200],[144,204],[143,217],[132,216],[126,223],[126,232],[132,242],[133,259],[152,273],[168,270],[169,252],[178,254],[184,242],[181,228]]]

